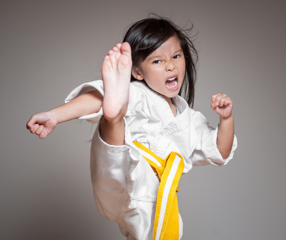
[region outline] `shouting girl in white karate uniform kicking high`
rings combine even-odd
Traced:
[[[143,19],[104,58],[103,81],[78,86],[64,105],[27,123],[40,138],[71,119],[98,123],[90,161],[96,205],[128,240],[180,239],[180,175],[193,165],[222,166],[236,149],[227,95],[211,96],[216,129],[190,108],[196,59],[185,31],[168,19]]]

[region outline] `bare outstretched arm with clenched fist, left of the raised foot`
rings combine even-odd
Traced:
[[[102,102],[103,96],[97,90],[82,94],[51,111],[33,115],[27,122],[26,128],[40,138],[45,138],[58,123],[98,112]]]

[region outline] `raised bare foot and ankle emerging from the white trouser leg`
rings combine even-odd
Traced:
[[[131,47],[127,42],[117,44],[103,61],[104,118],[99,132],[103,141],[110,145],[124,144],[123,117],[129,101],[131,68]]]

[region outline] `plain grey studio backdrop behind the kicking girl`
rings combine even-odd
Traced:
[[[182,239],[285,239],[285,1],[1,1],[0,238],[125,239],[96,208],[90,123],[46,139],[29,118],[100,76],[122,30],[155,10],[198,31],[195,109],[215,126],[210,97],[234,101],[238,149],[226,166],[180,180]],[[178,22],[177,21],[177,22]],[[184,20],[183,20],[184,22]],[[96,78],[98,79],[98,78]]]

